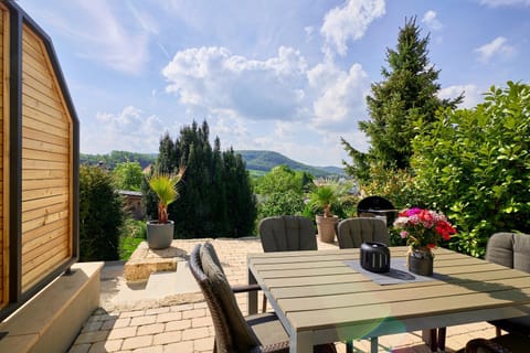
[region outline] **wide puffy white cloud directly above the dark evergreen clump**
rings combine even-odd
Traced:
[[[303,109],[306,61],[290,47],[266,61],[233,55],[225,47],[178,52],[162,69],[166,90],[184,106],[256,120],[294,119]]]

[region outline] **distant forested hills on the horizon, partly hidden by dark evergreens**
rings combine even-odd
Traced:
[[[296,171],[306,171],[314,176],[344,175],[344,171],[337,167],[311,167],[294,161],[282,153],[273,151],[235,151],[240,153],[246,163],[246,169],[255,174],[263,174],[276,165],[285,164]],[[140,163],[141,168],[155,163],[157,154],[136,153],[127,151],[112,151],[109,154],[85,154],[81,153],[81,162],[86,164],[97,164],[104,162],[108,169],[114,169],[116,164],[126,161]]]

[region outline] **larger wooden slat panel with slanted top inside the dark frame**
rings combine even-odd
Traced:
[[[72,257],[72,119],[43,43],[22,32],[22,291]]]

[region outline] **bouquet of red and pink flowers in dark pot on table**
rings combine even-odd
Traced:
[[[456,228],[443,213],[417,207],[401,211],[394,228],[409,245],[409,269],[421,276],[433,275],[432,249],[456,234]]]

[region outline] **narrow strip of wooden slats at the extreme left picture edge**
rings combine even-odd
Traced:
[[[0,4],[0,77],[2,79],[2,89],[0,89],[0,308],[3,308],[8,304],[8,280],[9,280],[9,270],[8,270],[8,255],[9,255],[9,242],[8,236],[9,232],[6,232],[4,225],[7,226],[8,222],[3,222],[4,217],[4,200],[8,200],[8,195],[4,195],[3,191],[3,163],[4,163],[4,141],[9,141],[6,138],[4,131],[9,129],[4,128],[4,124],[9,121],[9,77],[8,77],[8,67],[9,67],[9,18],[8,10]],[[7,158],[6,158],[7,160]]]

